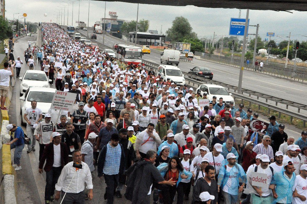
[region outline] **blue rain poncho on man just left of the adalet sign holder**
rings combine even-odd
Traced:
[[[235,163],[235,166],[232,167],[230,172],[226,171],[225,165],[227,164],[228,164],[227,159],[224,159],[222,162],[223,166],[221,166],[220,168],[217,184],[220,185],[220,190],[222,190],[226,185],[229,176],[233,176],[231,177],[231,188],[228,189],[228,193],[231,195],[238,195],[238,187],[240,186],[239,178],[242,179],[243,183],[246,183],[246,174],[241,165],[239,165],[238,163]]]

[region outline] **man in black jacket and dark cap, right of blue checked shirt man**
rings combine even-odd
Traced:
[[[128,131],[126,128],[121,128],[118,133],[120,136],[119,143],[122,145],[122,148],[125,153],[125,169],[128,169],[136,159],[133,144],[129,139],[127,139]],[[122,187],[125,185],[125,183],[126,175],[122,175],[121,173],[119,173],[119,185],[116,188],[116,196],[118,198],[122,198],[122,194],[120,193],[120,191],[122,190]]]

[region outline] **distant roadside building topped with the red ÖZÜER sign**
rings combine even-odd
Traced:
[[[117,13],[115,11],[109,11],[110,18],[100,18],[100,21],[96,21],[95,24],[101,25],[103,28],[104,20],[106,25],[104,26],[104,30],[110,33],[110,35],[113,35],[118,38],[122,38],[122,33],[120,32],[120,28],[122,27],[122,24],[124,22],[130,22],[127,20],[118,19]],[[108,24],[111,24],[111,28],[108,29]]]

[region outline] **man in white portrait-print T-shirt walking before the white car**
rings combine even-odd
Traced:
[[[27,134],[29,138],[32,138],[32,144],[28,144],[28,150],[27,153],[30,151],[35,151],[35,143],[36,138],[34,136],[35,128],[37,127],[37,124],[41,121],[43,118],[43,112],[40,108],[37,108],[37,101],[32,100],[31,101],[31,107],[25,109],[25,114],[23,115],[24,120],[27,122]]]

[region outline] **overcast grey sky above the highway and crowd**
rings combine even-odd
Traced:
[[[17,15],[26,13],[28,16],[26,21],[30,22],[52,22],[56,21],[56,14],[54,11],[60,9],[57,6],[65,4],[63,0],[10,0],[6,1],[6,18],[17,18]],[[65,0],[64,0],[65,1]],[[65,2],[70,2],[66,0]],[[70,2],[71,3],[71,2]],[[89,25],[94,25],[95,21],[104,17],[104,5],[102,1],[90,1],[90,14]],[[62,6],[63,7],[63,6]],[[74,3],[73,25],[76,26],[78,20],[79,2]],[[67,25],[67,6],[65,13],[65,25]],[[136,20],[137,4],[123,3],[123,2],[107,2],[106,18],[109,18],[109,11],[117,12],[119,19]],[[286,39],[286,36],[291,32],[291,39],[304,40],[307,37],[307,26],[305,26],[305,19],[307,19],[307,12],[292,11],[293,14],[288,12],[277,11],[261,11],[250,10],[249,18],[250,25],[260,25],[259,34],[262,38],[266,36],[266,32],[274,32],[275,36],[281,36]],[[44,16],[47,13],[47,17]],[[64,13],[64,9],[63,9]],[[238,18],[238,9],[212,9],[200,8],[196,6],[160,6],[160,5],[139,5],[138,19],[144,18],[150,21],[149,29],[158,30],[160,33],[162,25],[162,33],[171,27],[172,21],[176,16],[184,16],[188,18],[199,37],[213,37],[213,32],[221,37],[222,35],[228,36],[230,18]],[[87,23],[88,21],[88,1],[80,2],[80,21]],[[242,10],[241,18],[246,17],[246,10]],[[19,17],[21,18],[21,17]],[[64,22],[64,14],[62,16]],[[69,5],[68,24],[72,24],[72,4]],[[250,27],[248,33],[256,33],[256,27]],[[229,37],[229,36],[228,36]],[[280,37],[272,37],[271,39],[276,42],[282,41]]]

